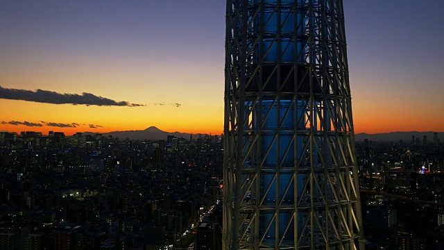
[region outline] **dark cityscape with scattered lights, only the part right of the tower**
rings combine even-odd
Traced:
[[[444,144],[357,142],[366,249],[444,249]]]

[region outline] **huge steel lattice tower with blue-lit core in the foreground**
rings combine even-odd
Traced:
[[[228,0],[224,249],[364,249],[342,0]]]

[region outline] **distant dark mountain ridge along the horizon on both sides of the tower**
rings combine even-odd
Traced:
[[[444,141],[444,132],[437,132],[438,138],[441,141]],[[92,132],[85,132],[84,134],[96,134]],[[112,131],[109,133],[101,133],[103,136],[112,135],[113,137],[117,137],[119,139],[130,139],[130,140],[167,140],[167,135],[174,135],[176,138],[185,138],[189,140],[190,133],[182,133],[182,132],[167,132],[162,131],[155,126],[150,126],[149,128],[144,129],[143,131]],[[193,138],[198,138],[198,134],[192,134]],[[205,134],[202,134],[205,135]],[[410,131],[410,132],[390,132],[390,133],[376,133],[376,134],[368,134],[368,133],[357,133],[355,134],[356,141],[364,141],[365,139],[373,140],[373,141],[391,141],[398,142],[399,140],[404,140],[404,142],[411,141],[411,136],[415,136],[422,141],[423,136],[427,136],[427,140],[429,142],[433,141],[434,132],[418,132],[418,131]]]

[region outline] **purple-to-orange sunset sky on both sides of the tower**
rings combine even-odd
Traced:
[[[444,131],[444,1],[343,3],[355,132]],[[220,134],[224,36],[222,0],[0,0],[1,88],[145,105],[0,99],[0,130]]]

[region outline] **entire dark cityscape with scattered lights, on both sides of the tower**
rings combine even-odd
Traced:
[[[219,136],[0,133],[0,249],[221,249]],[[357,142],[366,249],[444,246],[444,144]]]

